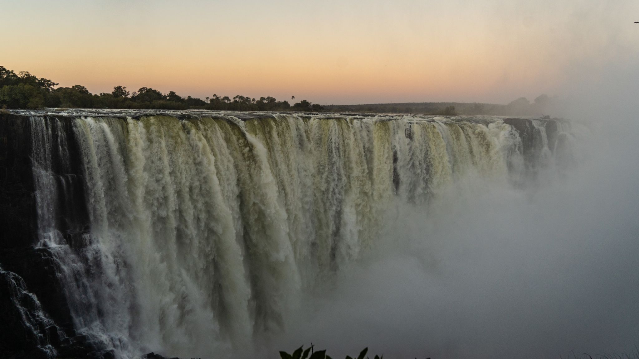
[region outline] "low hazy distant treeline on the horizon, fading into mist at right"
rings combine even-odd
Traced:
[[[439,116],[486,115],[486,116],[544,116],[560,114],[562,103],[557,96],[540,95],[530,102],[520,97],[507,105],[497,103],[465,102],[407,102],[369,103],[366,105],[325,105],[333,112],[376,112],[396,114],[427,114]]]

